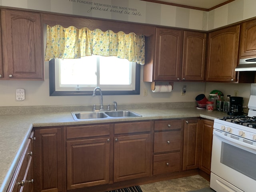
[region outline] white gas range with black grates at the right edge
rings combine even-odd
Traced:
[[[248,116],[214,120],[210,187],[216,192],[256,191],[256,96]]]

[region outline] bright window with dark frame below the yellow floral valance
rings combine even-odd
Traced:
[[[50,96],[140,94],[140,64],[126,59],[86,56],[49,61]]]

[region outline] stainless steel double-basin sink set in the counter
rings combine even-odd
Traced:
[[[74,120],[100,120],[100,119],[113,119],[113,118],[128,118],[128,117],[141,117],[140,114],[134,113],[130,110],[121,111],[95,111],[95,112],[71,112]]]

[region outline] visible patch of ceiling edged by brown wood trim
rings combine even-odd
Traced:
[[[215,6],[221,6],[234,0],[144,0],[162,4],[178,4],[183,6],[192,6],[198,9],[209,10]],[[177,5],[176,5],[177,6]]]

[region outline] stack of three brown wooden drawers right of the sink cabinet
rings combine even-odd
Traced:
[[[154,122],[153,175],[180,171],[182,141],[181,119]]]

